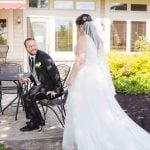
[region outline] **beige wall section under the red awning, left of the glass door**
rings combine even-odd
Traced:
[[[17,17],[23,15],[22,10],[0,10],[0,18],[7,19],[9,51],[7,61],[23,60],[23,22],[17,24]]]

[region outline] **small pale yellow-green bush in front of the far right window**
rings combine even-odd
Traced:
[[[138,39],[134,43],[134,51],[150,51],[150,44],[148,43],[145,36],[139,36]]]

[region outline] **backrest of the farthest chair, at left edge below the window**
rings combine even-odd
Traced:
[[[6,62],[8,50],[9,50],[8,45],[0,45],[0,59],[2,59],[3,62]]]

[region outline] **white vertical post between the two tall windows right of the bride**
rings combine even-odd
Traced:
[[[131,52],[131,20],[127,20],[126,52]]]

